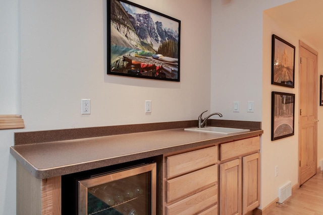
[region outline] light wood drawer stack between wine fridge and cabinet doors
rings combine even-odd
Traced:
[[[163,214],[218,214],[218,147],[169,155],[165,160]]]

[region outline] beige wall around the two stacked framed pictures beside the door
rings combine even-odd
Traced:
[[[278,197],[278,188],[287,181],[298,183],[298,61],[295,60],[295,88],[283,88],[271,84],[272,34],[276,34],[296,46],[295,59],[298,59],[298,37],[288,29],[280,27],[265,13],[263,15],[263,68],[262,68],[262,135],[261,143],[261,207]],[[295,94],[294,135],[271,141],[272,91]],[[278,176],[275,177],[275,167]]]

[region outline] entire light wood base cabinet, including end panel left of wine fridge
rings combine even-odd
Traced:
[[[259,150],[255,136],[163,155],[157,214],[249,213],[260,203]],[[61,214],[61,177],[37,179],[17,162],[17,214]]]

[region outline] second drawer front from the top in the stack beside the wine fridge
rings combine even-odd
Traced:
[[[194,192],[206,185],[218,184],[218,165],[213,165],[166,182],[167,202]]]

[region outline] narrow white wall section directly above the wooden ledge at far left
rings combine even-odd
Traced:
[[[20,114],[18,0],[0,3],[0,114]]]

